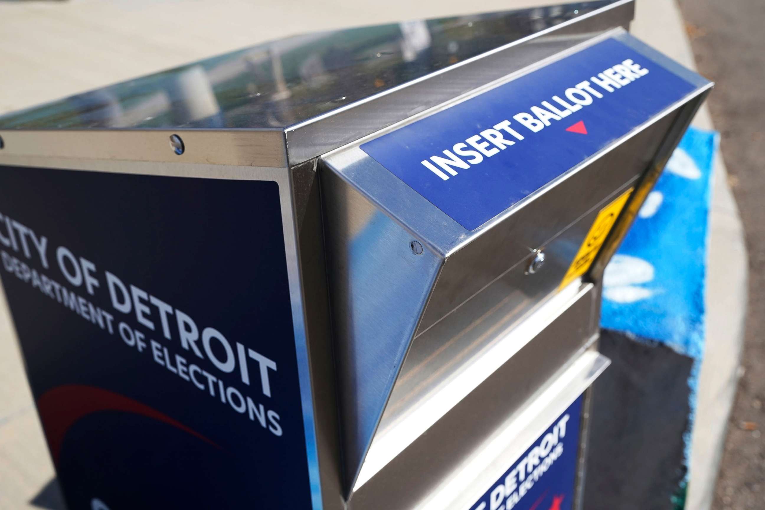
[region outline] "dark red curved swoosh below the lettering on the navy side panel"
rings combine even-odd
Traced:
[[[210,443],[213,447],[220,448],[212,440],[190,429],[180,421],[175,421],[167,414],[157,411],[155,408],[150,408],[148,405],[142,404],[137,400],[125,397],[125,395],[119,395],[119,393],[96,388],[95,386],[57,386],[46,391],[37,399],[37,411],[40,412],[40,418],[43,422],[48,445],[50,446],[50,453],[53,454],[53,460],[56,464],[58,464],[61,453],[63,437],[67,434],[70,427],[80,418],[98,411],[122,411],[149,417],[183,430],[194,437],[198,437],[200,440]]]

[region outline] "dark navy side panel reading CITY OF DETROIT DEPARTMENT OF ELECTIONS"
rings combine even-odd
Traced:
[[[311,508],[278,184],[0,167],[69,508]]]

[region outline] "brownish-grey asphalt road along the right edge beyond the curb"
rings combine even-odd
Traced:
[[[715,490],[715,510],[765,508],[765,2],[680,0],[698,70],[744,221],[749,309],[737,398]]]

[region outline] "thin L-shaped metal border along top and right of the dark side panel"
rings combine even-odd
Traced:
[[[317,428],[314,414],[314,393],[311,385],[311,366],[308,337],[304,317],[304,288],[298,260],[298,225],[293,214],[294,189],[291,174],[286,167],[242,167],[220,164],[160,163],[142,161],[99,161],[93,159],[47,158],[11,155],[0,158],[0,164],[15,167],[47,167],[60,171],[99,171],[119,174],[155,175],[166,177],[197,177],[230,180],[272,180],[278,184],[279,203],[282,208],[282,232],[285,239],[285,258],[292,310],[295,356],[298,364],[298,382],[303,414],[304,441],[307,456],[308,479],[311,491],[311,510],[339,510],[340,495],[323,494],[318,459],[319,440],[326,440]],[[12,322],[12,321],[11,321]],[[17,337],[18,338],[18,337]],[[337,502],[333,505],[332,502]],[[330,504],[326,504],[329,502]]]

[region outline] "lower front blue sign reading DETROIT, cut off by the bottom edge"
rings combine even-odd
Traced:
[[[574,508],[581,401],[577,398],[470,509]]]

